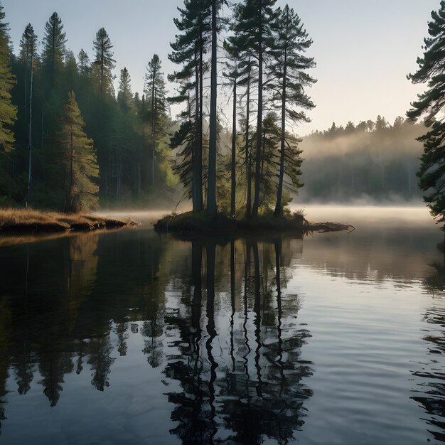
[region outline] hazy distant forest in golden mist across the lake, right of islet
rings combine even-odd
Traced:
[[[377,116],[355,126],[334,123],[325,132],[303,138],[304,162],[298,200],[303,202],[363,202],[421,200],[417,186],[423,147],[415,140],[424,124],[397,117],[389,124]]]

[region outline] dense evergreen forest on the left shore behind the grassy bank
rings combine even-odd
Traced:
[[[39,38],[31,24],[11,48],[0,6],[0,203],[79,211],[137,203],[171,193],[166,85],[158,55],[144,93],[133,94],[127,68],[116,67],[100,28],[92,58],[67,48],[61,18]]]

